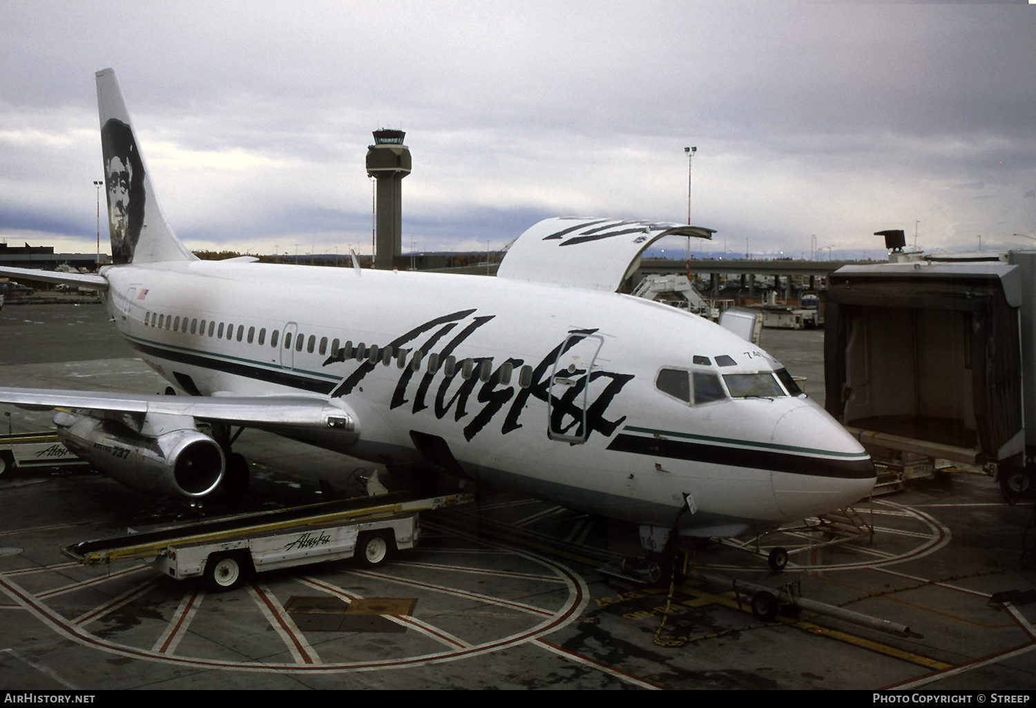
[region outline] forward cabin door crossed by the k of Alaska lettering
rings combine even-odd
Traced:
[[[597,334],[569,334],[565,338],[550,372],[547,435],[551,440],[586,442],[591,378],[603,344],[604,338]]]

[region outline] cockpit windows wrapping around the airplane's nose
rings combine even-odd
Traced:
[[[802,389],[786,368],[755,374],[724,374],[722,377],[712,372],[663,368],[655,379],[655,386],[663,393],[688,404],[693,401],[695,405],[721,401],[728,395],[732,399],[773,399],[802,394]]]

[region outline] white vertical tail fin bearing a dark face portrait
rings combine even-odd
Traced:
[[[95,76],[112,263],[196,260],[162,213],[115,71]]]

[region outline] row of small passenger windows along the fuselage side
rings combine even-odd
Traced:
[[[266,343],[265,327],[260,328],[257,335],[255,327],[250,326],[246,329],[244,325],[239,324],[237,325],[237,334],[235,337],[233,323],[218,323],[214,320],[206,321],[199,320],[198,318],[181,318],[178,316],[174,317],[172,315],[159,313],[145,314],[144,324],[149,327],[198,334],[201,336],[211,336],[218,340],[226,338],[228,341],[232,341],[236,338],[237,342],[246,342],[248,344],[255,343],[259,346],[264,346]],[[280,330],[275,329],[269,335],[269,346],[271,348],[276,348],[279,338]],[[282,346],[286,350],[294,347],[296,352],[301,352],[303,349],[305,349],[310,354],[317,353],[320,356],[325,356],[328,352],[327,345],[328,338],[326,336],[320,337],[318,343],[316,334],[310,334],[307,338],[306,334],[301,332],[286,331],[284,333]],[[341,340],[337,338],[330,342],[329,351],[332,356],[336,357],[339,361],[344,361],[346,359],[364,361],[366,359],[372,364],[380,362],[387,366],[393,362],[393,360],[395,360],[396,365],[399,368],[405,368],[407,366],[406,358],[412,352],[413,356],[410,357],[409,366],[413,372],[420,372],[422,363],[425,363],[429,374],[435,374],[441,367],[443,374],[448,377],[454,376],[457,373],[458,366],[457,357],[452,355],[442,357],[439,354],[428,354],[426,359],[425,352],[420,349],[394,350],[392,347],[379,347],[378,345],[368,346],[362,342],[355,346],[353,346],[352,342],[346,342],[344,346],[341,346]],[[472,376],[478,376],[481,381],[489,381],[493,374],[492,360],[488,358],[463,359],[460,361],[459,365],[461,378],[465,380],[470,379]],[[509,385],[514,375],[514,364],[507,361],[500,366],[499,371],[500,385]],[[528,388],[531,383],[533,367],[526,364],[518,371],[518,385],[522,388]]]

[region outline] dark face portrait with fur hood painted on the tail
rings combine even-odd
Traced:
[[[144,226],[144,163],[133,130],[114,118],[100,129],[112,263],[130,263]]]

